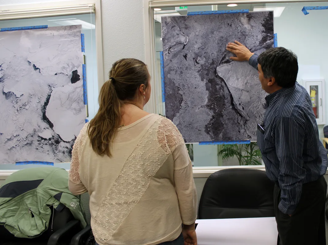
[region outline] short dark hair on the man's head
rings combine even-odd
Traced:
[[[257,58],[265,78],[274,77],[278,86],[293,87],[296,83],[298,64],[297,56],[292,51],[278,47],[268,49]]]

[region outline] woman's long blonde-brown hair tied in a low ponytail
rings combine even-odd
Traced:
[[[150,75],[142,61],[121,59],[113,64],[109,77],[101,87],[99,110],[89,122],[88,136],[95,153],[111,157],[111,146],[121,122],[121,105],[135,98],[140,85],[147,88]]]

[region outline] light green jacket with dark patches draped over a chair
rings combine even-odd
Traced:
[[[0,224],[16,237],[33,238],[48,229],[51,209],[68,207],[87,223],[80,198],[68,189],[68,173],[55,167],[19,170],[0,187]]]

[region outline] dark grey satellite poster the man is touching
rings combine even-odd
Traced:
[[[234,40],[272,48],[273,12],[162,17],[165,113],[187,143],[256,140],[266,93],[248,62],[229,59]]]

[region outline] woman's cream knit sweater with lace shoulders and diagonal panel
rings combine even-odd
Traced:
[[[197,216],[192,164],[174,124],[150,114],[118,130],[113,156],[93,152],[86,124],[72,151],[69,188],[90,194],[100,245],[153,245],[176,239]]]

